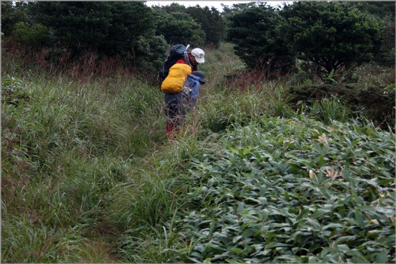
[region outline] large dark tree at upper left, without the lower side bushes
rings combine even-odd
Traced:
[[[33,14],[53,30],[55,43],[73,50],[133,53],[138,37],[154,33],[151,9],[143,2],[37,2]]]

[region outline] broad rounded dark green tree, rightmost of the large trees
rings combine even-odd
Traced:
[[[347,2],[294,2],[280,14],[288,47],[327,74],[370,60],[380,47],[380,23]]]

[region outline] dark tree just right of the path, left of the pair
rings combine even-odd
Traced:
[[[287,71],[293,66],[293,53],[277,31],[282,23],[278,11],[264,2],[236,5],[227,9],[227,39],[250,68]]]

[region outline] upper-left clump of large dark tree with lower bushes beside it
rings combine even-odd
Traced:
[[[119,56],[148,72],[163,62],[167,47],[154,35],[152,10],[143,2],[39,1],[29,5],[29,14],[31,29],[19,23],[13,33],[29,44],[67,47],[72,56],[86,50]],[[43,37],[47,29],[50,39]]]

